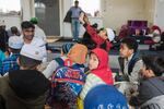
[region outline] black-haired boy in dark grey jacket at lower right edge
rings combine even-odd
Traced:
[[[153,109],[163,109],[163,104],[161,100],[164,100],[164,81],[162,74],[164,72],[164,58],[156,56],[147,56],[142,58],[144,66],[141,70],[143,80],[139,86],[139,95],[133,96],[130,99],[130,105],[134,107],[142,107],[142,109],[152,109],[151,107],[161,107]],[[159,99],[156,101],[150,101],[152,99]],[[147,104],[147,105],[144,105]],[[163,108],[162,108],[163,107]]]

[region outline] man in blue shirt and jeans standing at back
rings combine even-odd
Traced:
[[[70,10],[67,12],[67,15],[63,20],[63,22],[71,23],[72,27],[72,35],[73,35],[73,41],[78,41],[79,33],[80,33],[80,21],[79,16],[82,12],[82,9],[79,7],[79,1],[74,1],[74,5],[70,8]]]

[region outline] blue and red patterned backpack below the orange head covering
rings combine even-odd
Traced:
[[[77,99],[85,80],[85,74],[80,68],[83,64],[72,64],[69,59],[55,59],[59,63],[59,68],[54,72],[51,77],[50,99],[48,104],[52,107],[61,107],[61,109],[77,108]],[[59,108],[60,109],[60,108]]]

